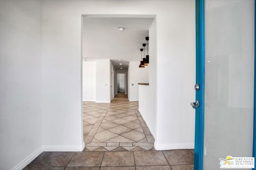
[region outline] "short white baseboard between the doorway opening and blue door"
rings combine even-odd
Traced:
[[[171,149],[194,149],[194,143],[173,143],[169,145],[154,144],[156,150],[171,150]]]

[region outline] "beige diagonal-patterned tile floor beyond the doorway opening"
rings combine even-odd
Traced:
[[[84,151],[135,151],[154,148],[154,137],[138,102],[118,94],[110,104],[83,102]]]

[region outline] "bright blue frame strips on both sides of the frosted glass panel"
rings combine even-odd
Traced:
[[[252,156],[256,156],[256,0],[254,0],[254,127]],[[196,0],[196,100],[201,107],[196,109],[194,170],[203,169],[204,155],[204,0]],[[256,168],[255,168],[256,169]]]

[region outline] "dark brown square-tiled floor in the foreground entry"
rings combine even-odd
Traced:
[[[193,170],[193,150],[43,152],[24,170]]]

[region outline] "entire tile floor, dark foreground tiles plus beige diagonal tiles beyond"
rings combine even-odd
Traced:
[[[83,102],[83,152],[43,152],[24,170],[193,170],[194,150],[154,149],[138,102]]]

